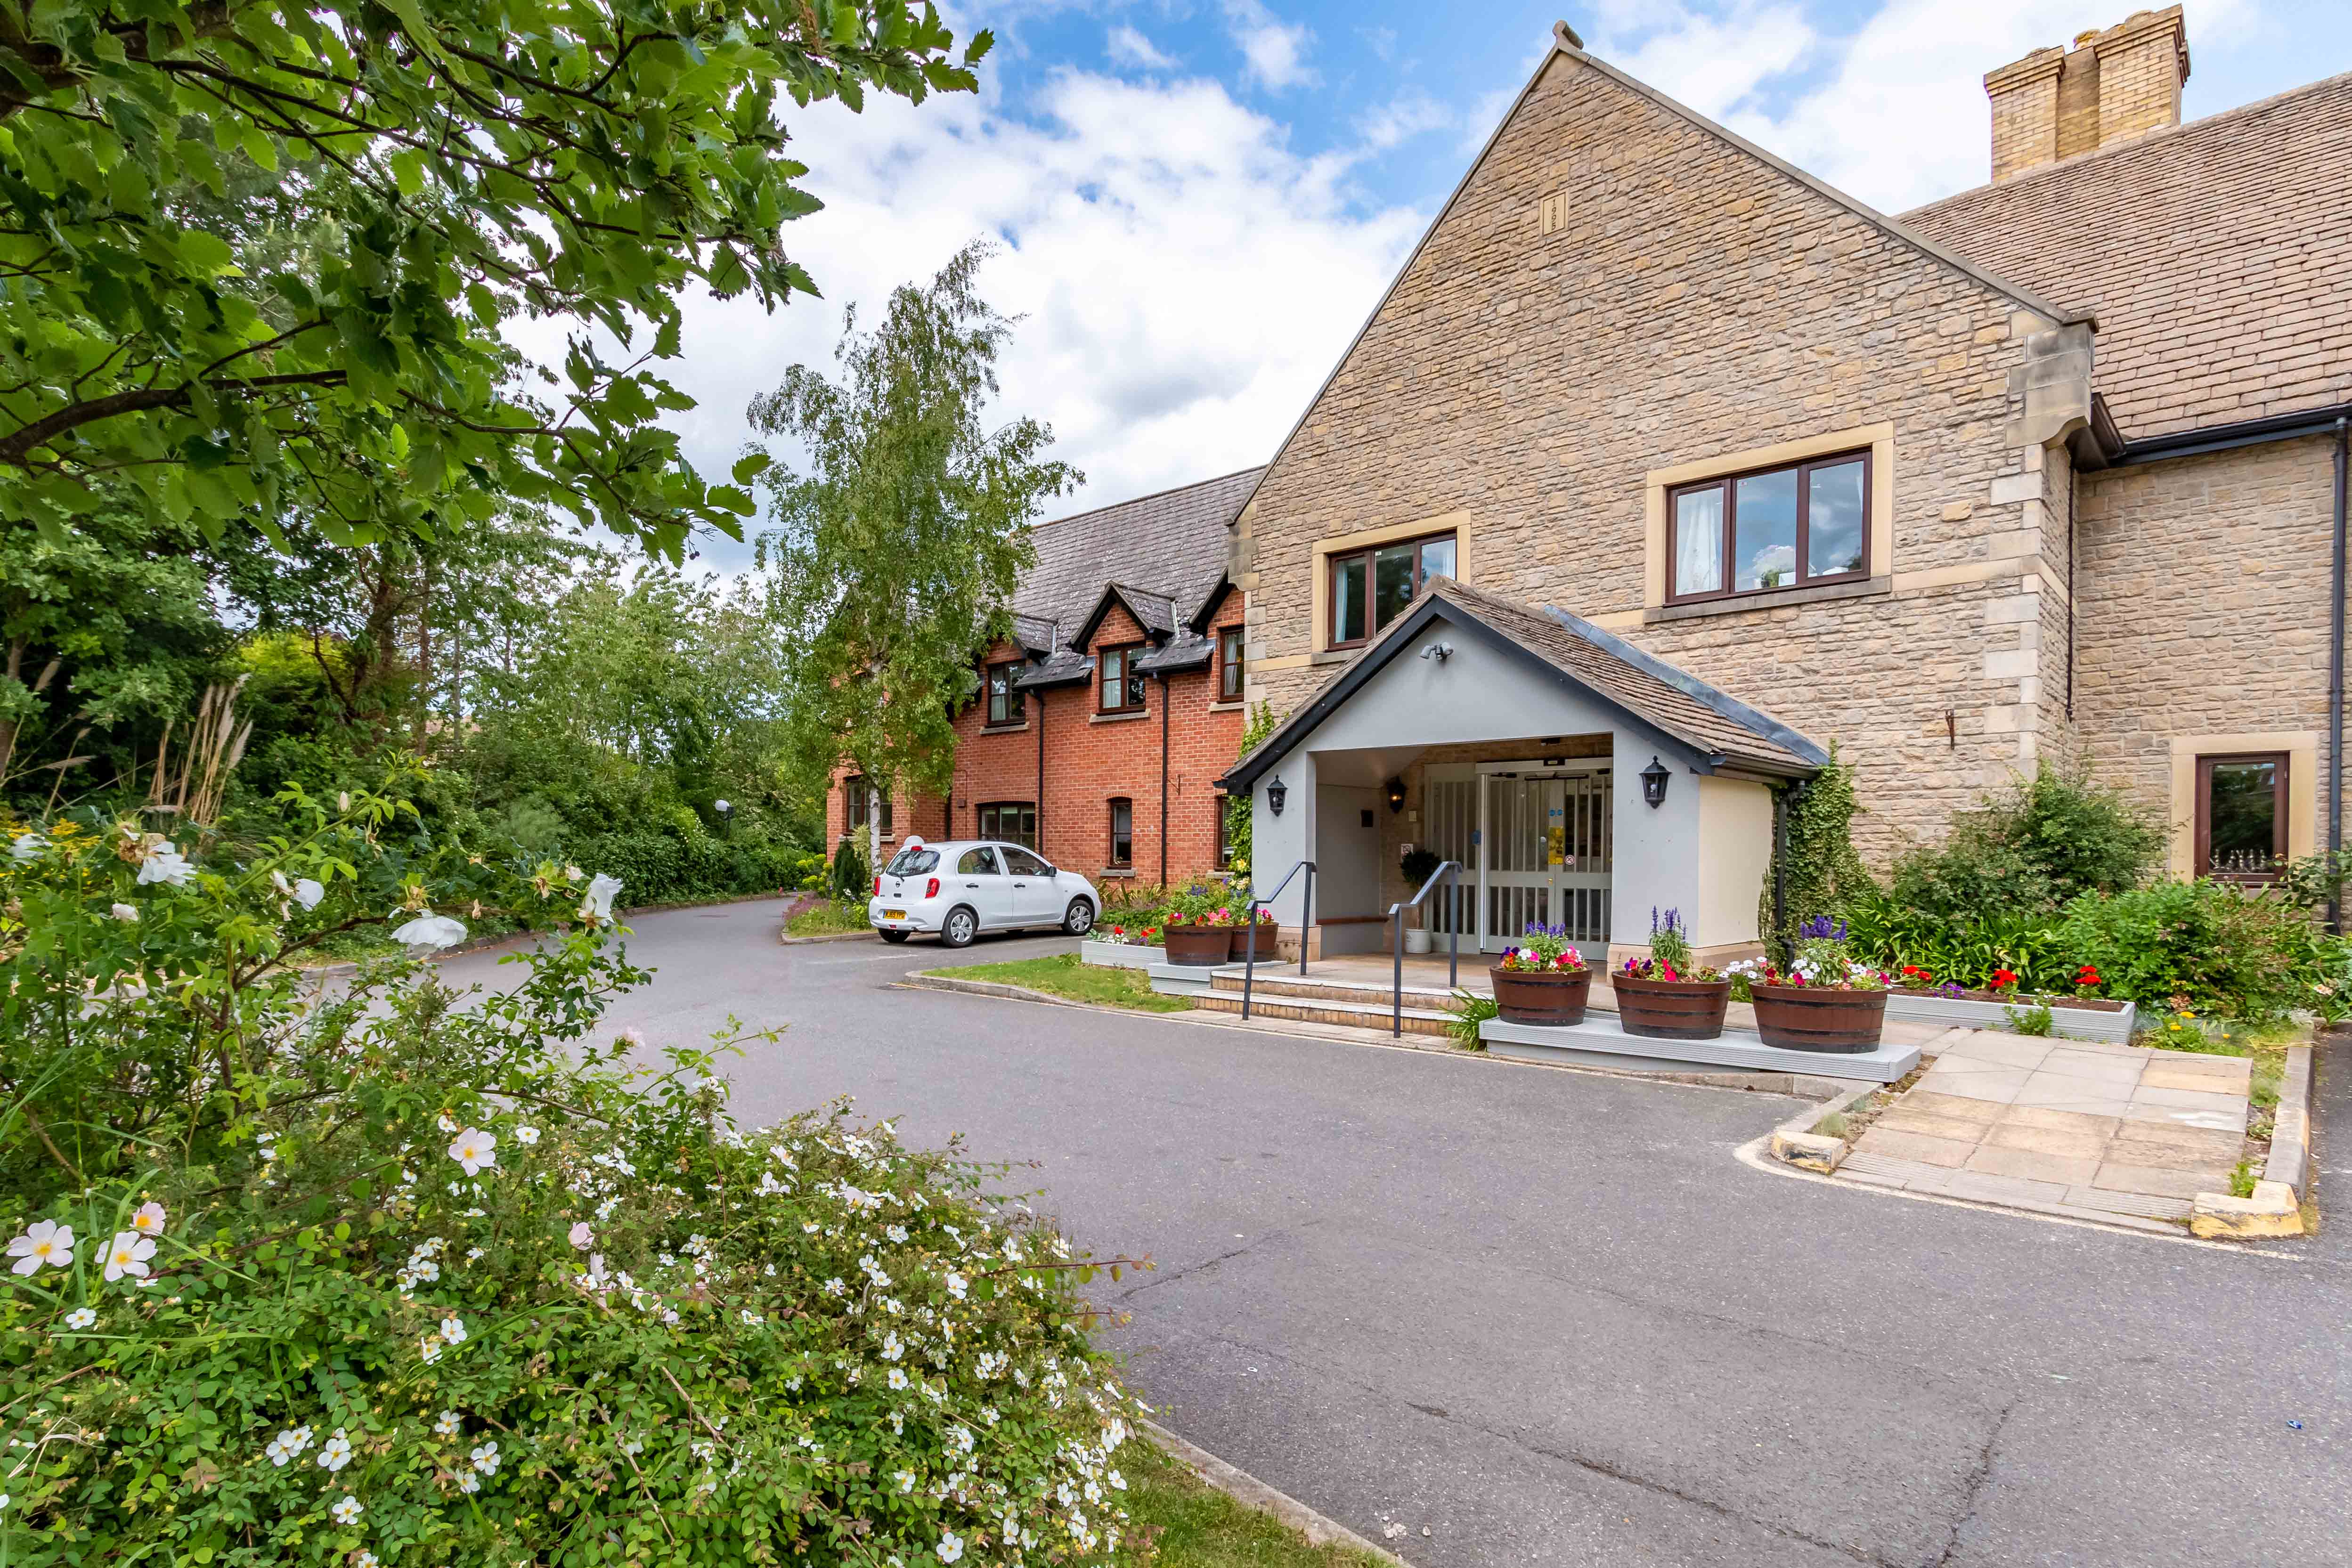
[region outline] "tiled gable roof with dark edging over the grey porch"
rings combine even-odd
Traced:
[[[1828,750],[1788,724],[1581,616],[1550,607],[1536,609],[1503,595],[1465,588],[1454,578],[1430,578],[1421,597],[1371,646],[1235,762],[1216,780],[1218,788],[1232,795],[1249,790],[1364,682],[1404,654],[1430,621],[1439,618],[1465,632],[1482,632],[1496,649],[1526,661],[1552,679],[1573,682],[1611,708],[1689,745],[1715,769],[1809,778],[1830,759]]]

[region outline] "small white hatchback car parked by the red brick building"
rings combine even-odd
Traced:
[[[908,839],[875,875],[866,922],[884,943],[936,931],[941,947],[969,947],[981,931],[1058,926],[1094,931],[1103,896],[1077,872],[1002,839]]]

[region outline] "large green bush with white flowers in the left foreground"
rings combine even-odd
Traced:
[[[739,1128],[739,1034],[590,1044],[616,889],[402,820],[0,860],[0,1561],[1127,1561],[1117,1269],[847,1105]],[[287,966],[475,905],[553,926],[513,985]]]

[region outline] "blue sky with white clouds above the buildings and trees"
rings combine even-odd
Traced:
[[[1084,487],[1044,517],[1263,463],[1566,16],[1585,47],[1882,212],[1978,186],[1983,75],[2136,0],[981,0],[978,94],[786,129],[826,207],[786,226],[823,299],[687,301],[670,416],[722,480],[743,407],[976,237],[1021,317],[995,416],[1054,428]],[[2183,115],[2352,71],[2345,0],[2187,0]],[[790,106],[788,106],[790,108]],[[793,451],[779,447],[781,461]],[[703,538],[701,562],[748,564]]]

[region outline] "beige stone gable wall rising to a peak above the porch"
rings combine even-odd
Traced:
[[[1541,235],[1552,190],[1569,226]],[[1242,520],[1261,691],[1291,710],[1331,675],[1308,663],[1317,538],[1468,510],[1477,585],[1604,618],[1839,743],[1884,858],[2037,748],[2046,458],[2004,430],[2039,327],[1555,56]],[[1879,421],[1891,592],[1642,623],[1644,473]]]

